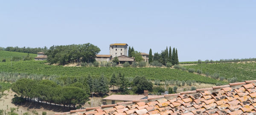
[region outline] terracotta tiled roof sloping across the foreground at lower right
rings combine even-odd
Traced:
[[[71,115],[256,115],[256,86],[250,80],[70,111]],[[176,96],[176,98],[173,98]],[[61,114],[61,113],[60,113]],[[57,115],[57,114],[56,114]]]

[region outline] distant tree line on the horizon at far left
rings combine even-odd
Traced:
[[[1,51],[9,51],[9,52],[22,52],[22,53],[32,53],[32,54],[37,54],[38,52],[47,52],[47,47],[44,46],[44,48],[38,47],[38,48],[30,48],[30,47],[22,47],[19,48],[18,46],[16,47],[0,47]]]

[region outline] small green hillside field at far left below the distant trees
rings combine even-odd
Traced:
[[[2,62],[3,59],[6,60],[6,62],[11,61],[18,61],[23,60],[23,57],[26,57],[27,53],[21,53],[21,52],[9,52],[9,51],[0,51],[0,62]],[[37,54],[29,54],[29,56],[35,58]]]

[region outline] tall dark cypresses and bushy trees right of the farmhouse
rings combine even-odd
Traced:
[[[156,52],[156,53],[154,53],[154,55],[152,55],[152,49],[150,49],[149,56],[148,56],[148,62],[149,63],[159,62],[165,66],[172,66],[175,64],[179,64],[177,48],[171,49],[171,46],[170,46],[169,52],[168,52],[168,47],[166,46],[166,49],[162,50],[162,52],[160,54],[158,52]]]

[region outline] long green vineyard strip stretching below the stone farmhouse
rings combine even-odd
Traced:
[[[44,64],[46,61],[17,61],[0,63],[2,72],[17,72],[38,75],[58,75],[58,76],[100,76],[111,78],[113,73],[125,74],[125,77],[145,76],[150,80],[195,80],[201,83],[222,82],[201,75],[196,75],[179,69],[169,68],[131,68],[131,67],[64,67]],[[224,82],[223,82],[224,83]]]

